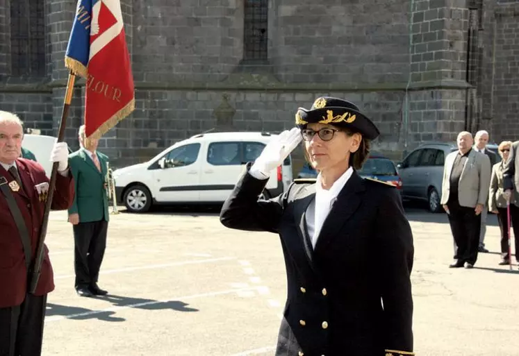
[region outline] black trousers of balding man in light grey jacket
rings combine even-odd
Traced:
[[[458,196],[452,194],[447,202],[449,223],[454,237],[454,260],[459,263],[475,264],[481,231],[481,214],[476,215],[474,207],[459,205]]]

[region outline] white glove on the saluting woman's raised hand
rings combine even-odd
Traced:
[[[257,173],[261,173],[263,178],[268,178],[270,171],[283,164],[285,158],[290,155],[290,152],[297,147],[301,140],[301,131],[297,127],[290,131],[284,130],[279,135],[272,137],[261,155],[252,164],[249,173],[255,178],[258,178]]]

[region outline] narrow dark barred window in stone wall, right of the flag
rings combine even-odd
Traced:
[[[268,0],[245,0],[243,58],[267,59]]]

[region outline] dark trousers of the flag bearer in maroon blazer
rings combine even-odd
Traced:
[[[22,305],[0,308],[0,356],[40,356],[47,295],[27,294]]]

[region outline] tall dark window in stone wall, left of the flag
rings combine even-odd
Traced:
[[[44,76],[45,13],[42,0],[10,1],[11,74]]]

